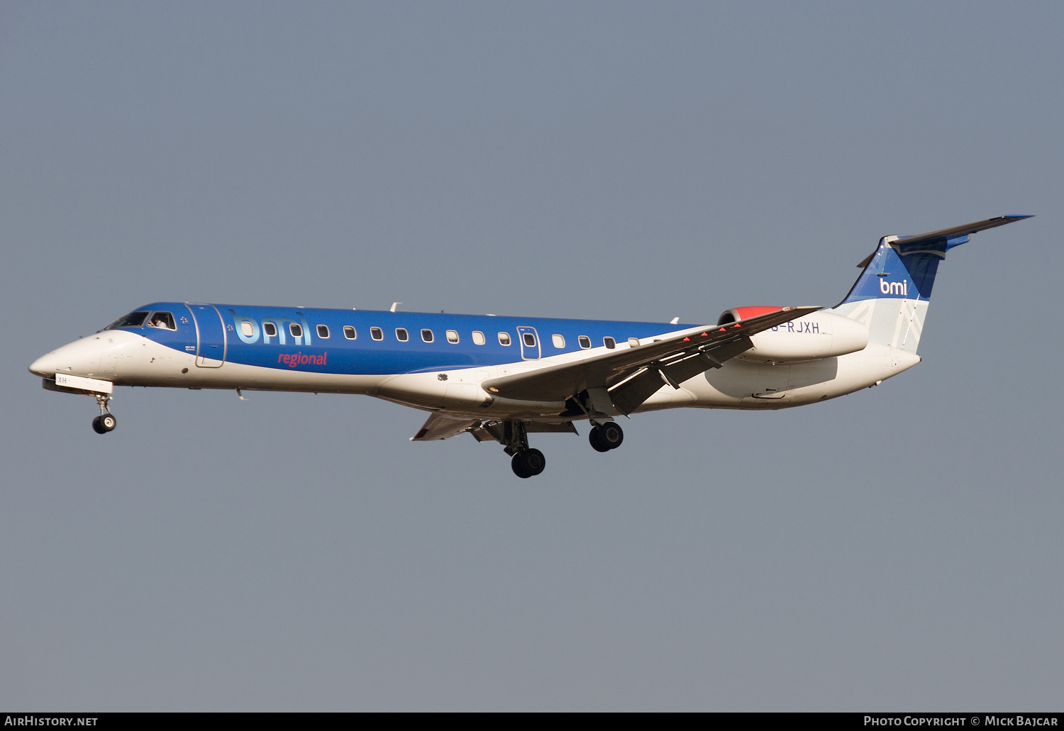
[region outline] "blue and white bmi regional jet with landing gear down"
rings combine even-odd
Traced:
[[[361,394],[430,412],[413,442],[495,441],[519,478],[543,472],[529,434],[621,445],[619,416],[680,406],[786,409],[879,385],[920,362],[938,263],[998,216],[884,236],[842,302],[742,306],[715,325],[152,302],[41,355],[41,385],[96,399],[115,386]]]

